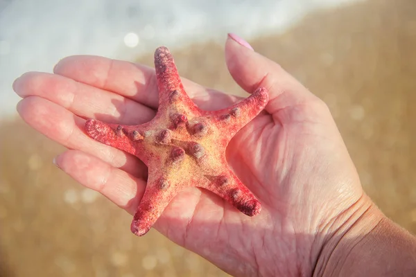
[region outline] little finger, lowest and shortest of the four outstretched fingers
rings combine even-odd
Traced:
[[[143,179],[79,150],[65,151],[55,158],[55,163],[86,188],[96,190],[128,213],[135,213],[146,187]]]

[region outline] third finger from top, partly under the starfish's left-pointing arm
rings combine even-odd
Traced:
[[[115,168],[131,175],[146,177],[147,168],[139,159],[117,150],[85,134],[85,119],[38,96],[28,96],[19,102],[17,111],[28,125],[67,148],[92,154]]]

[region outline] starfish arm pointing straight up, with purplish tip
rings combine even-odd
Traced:
[[[163,111],[168,105],[178,105],[180,102],[190,109],[198,110],[184,90],[171,52],[164,46],[155,51],[155,70],[159,88],[159,110]]]

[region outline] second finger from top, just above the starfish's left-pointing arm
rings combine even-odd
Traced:
[[[13,83],[22,98],[40,96],[83,118],[125,125],[144,123],[155,111],[119,94],[98,89],[61,75],[29,72]]]

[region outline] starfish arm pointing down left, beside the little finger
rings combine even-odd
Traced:
[[[171,181],[163,177],[148,180],[146,190],[130,226],[132,233],[139,236],[146,234],[176,194],[177,187],[175,184],[171,184]]]

